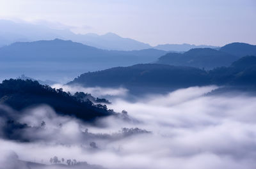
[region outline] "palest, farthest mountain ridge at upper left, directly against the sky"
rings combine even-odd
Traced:
[[[132,40],[131,38],[122,38],[114,33],[103,35],[92,33],[75,34],[69,29],[52,29],[40,24],[31,24],[29,22],[17,23],[10,20],[0,20],[0,27],[0,47],[17,41],[28,42],[60,38],[108,50],[141,50],[151,48],[147,43]]]

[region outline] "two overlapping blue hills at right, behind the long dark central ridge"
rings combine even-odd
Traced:
[[[232,62],[246,55],[256,55],[256,45],[230,43],[221,47],[220,50],[193,48],[182,54],[170,52],[159,57],[157,63],[212,69],[220,66],[230,66]]]

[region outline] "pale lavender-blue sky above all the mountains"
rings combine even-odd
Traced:
[[[255,0],[1,0],[0,18],[150,45],[256,45]]]

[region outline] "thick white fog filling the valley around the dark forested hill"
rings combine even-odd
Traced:
[[[57,156],[109,169],[250,169],[256,166],[255,96],[205,95],[216,89],[206,86],[130,101],[126,99],[129,91],[123,88],[53,87],[89,92],[97,97],[111,96],[108,108],[127,111],[131,120],[106,117],[96,124],[88,124],[57,115],[51,107],[28,109],[19,121],[31,126],[40,126],[44,121],[45,130],[26,133],[38,138],[34,142],[1,139],[1,152],[13,151],[19,159],[36,163],[49,164],[49,159]],[[125,134],[124,128],[133,130]],[[5,154],[0,156],[3,166]]]

